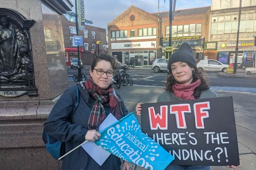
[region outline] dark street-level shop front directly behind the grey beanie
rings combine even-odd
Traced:
[[[182,38],[181,38],[182,39]],[[204,47],[202,44],[204,44],[203,39],[193,39],[193,40],[172,40],[172,51],[173,53],[180,47],[182,43],[188,43],[192,47],[193,55],[196,61],[200,61],[203,59],[204,55]],[[162,48],[163,51],[165,51],[166,47],[169,47],[169,41],[162,41]],[[170,56],[169,56],[170,57]],[[169,57],[165,57],[166,59],[169,59]]]

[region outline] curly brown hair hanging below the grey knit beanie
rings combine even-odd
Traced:
[[[192,67],[190,64],[188,64],[188,66]],[[202,72],[201,70],[198,70],[197,68],[195,68],[195,71],[193,72],[192,76],[193,76],[192,83],[195,82],[198,78],[201,79],[201,84],[197,88],[195,88],[193,93],[193,96],[196,99],[198,99],[200,97],[201,91],[209,89],[210,86],[208,84],[208,81],[205,77],[204,72]],[[173,78],[172,73],[167,74],[164,89],[172,92],[172,85],[174,85],[175,83],[177,83],[177,81]]]

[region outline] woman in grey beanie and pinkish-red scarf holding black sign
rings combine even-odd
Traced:
[[[171,55],[168,71],[170,74],[166,77],[165,91],[158,96],[157,102],[218,97],[210,90],[204,74],[197,69],[192,49],[188,43],[182,43],[180,48]],[[136,106],[137,115],[140,115],[141,104],[143,103],[138,103]],[[236,166],[228,167],[236,168]],[[169,165],[166,170],[210,170],[210,166]]]

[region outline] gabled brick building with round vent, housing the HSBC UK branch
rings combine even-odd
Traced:
[[[110,55],[128,64],[148,66],[157,54],[158,18],[135,6],[131,6],[108,23]]]

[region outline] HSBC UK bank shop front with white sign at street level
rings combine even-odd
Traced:
[[[111,49],[112,56],[116,57],[118,61],[129,64],[132,60],[134,66],[137,67],[151,66],[156,59],[156,41],[112,43]]]

